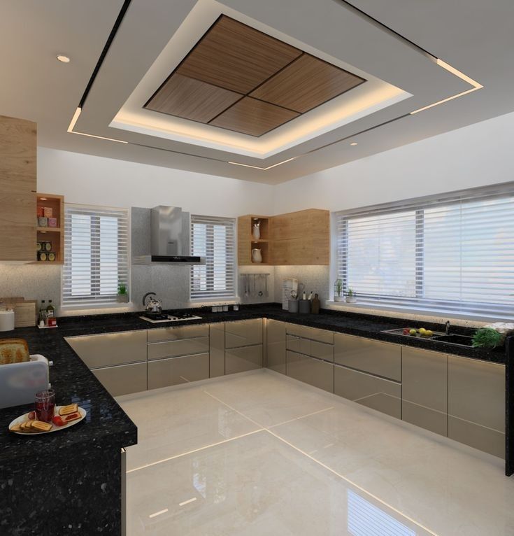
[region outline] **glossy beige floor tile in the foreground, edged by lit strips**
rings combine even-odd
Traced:
[[[129,536],[427,536],[261,431],[129,473]]]

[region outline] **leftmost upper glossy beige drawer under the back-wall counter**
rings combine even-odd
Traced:
[[[69,337],[66,342],[90,369],[146,360],[146,330]]]

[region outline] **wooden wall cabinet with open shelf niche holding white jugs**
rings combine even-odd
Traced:
[[[255,240],[253,224],[260,223],[261,237]],[[259,248],[262,262],[252,262],[252,249]],[[248,214],[238,218],[238,264],[329,265],[330,213],[307,209],[278,216]]]

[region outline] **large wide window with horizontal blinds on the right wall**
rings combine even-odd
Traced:
[[[337,277],[366,301],[514,316],[514,184],[336,220]]]

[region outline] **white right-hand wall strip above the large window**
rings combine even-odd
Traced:
[[[340,211],[514,180],[514,113],[277,185],[276,214]]]

